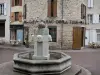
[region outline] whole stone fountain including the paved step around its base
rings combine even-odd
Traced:
[[[91,75],[83,67],[72,64],[69,55],[49,51],[52,38],[44,24],[38,25],[34,40],[34,51],[14,54],[14,62],[0,66],[2,75]]]

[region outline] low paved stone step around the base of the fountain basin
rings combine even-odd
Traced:
[[[28,75],[23,73],[18,73],[13,71],[13,62],[7,62],[0,65],[0,75]],[[37,75],[37,74],[29,74],[29,75]],[[39,74],[44,75],[44,74]],[[62,74],[52,74],[52,75],[91,75],[91,73],[78,65],[72,65],[71,69],[63,72]]]

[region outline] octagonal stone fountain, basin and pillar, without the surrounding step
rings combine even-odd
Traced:
[[[14,55],[14,69],[16,71],[55,74],[71,68],[69,55],[61,52],[49,52],[49,41],[52,41],[52,38],[44,24],[38,25],[34,40],[34,52]]]

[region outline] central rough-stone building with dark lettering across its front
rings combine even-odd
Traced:
[[[42,21],[48,25],[53,39],[50,48],[81,49],[85,44],[86,2],[86,0],[25,0],[24,37],[28,32],[28,41],[31,44],[38,21]]]

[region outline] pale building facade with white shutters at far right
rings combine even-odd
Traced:
[[[87,0],[86,42],[100,43],[100,0]]]

